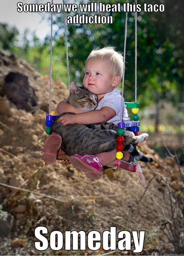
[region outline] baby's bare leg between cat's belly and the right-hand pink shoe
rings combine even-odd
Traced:
[[[103,165],[107,165],[116,159],[116,153],[117,153],[117,150],[113,149],[112,151],[109,151],[109,152],[98,153],[98,154],[96,154],[96,156],[100,160],[102,160]],[[130,154],[128,154],[127,152],[124,152],[124,151],[123,151],[123,154],[124,154],[123,160],[128,161],[130,159]]]

